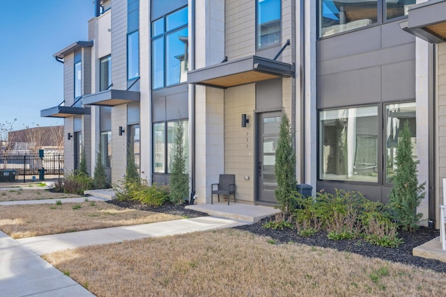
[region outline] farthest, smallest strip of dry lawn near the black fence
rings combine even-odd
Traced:
[[[52,193],[44,188],[26,189],[15,188],[13,190],[0,190],[0,202],[19,201],[19,200],[40,200],[40,199],[61,199],[79,197],[79,195]]]

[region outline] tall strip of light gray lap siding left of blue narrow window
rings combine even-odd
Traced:
[[[127,1],[114,1],[112,8],[112,83],[127,90]]]

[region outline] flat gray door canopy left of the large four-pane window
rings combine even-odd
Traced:
[[[132,90],[103,90],[99,93],[84,95],[82,104],[84,105],[100,105],[100,106],[116,106],[132,102],[139,102],[141,97],[139,92]]]

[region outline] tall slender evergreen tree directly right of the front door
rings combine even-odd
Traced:
[[[286,113],[282,116],[280,123],[274,172],[277,179],[275,198],[279,202],[279,208],[285,214],[289,214],[295,191],[295,152],[291,125]]]

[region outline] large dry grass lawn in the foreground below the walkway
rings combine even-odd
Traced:
[[[44,257],[97,296],[443,296],[446,275],[240,230]]]

